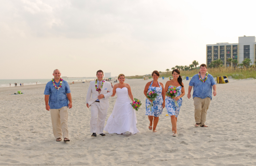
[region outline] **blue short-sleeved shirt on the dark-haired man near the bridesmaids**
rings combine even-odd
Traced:
[[[202,79],[204,80],[205,77]],[[189,86],[193,86],[193,99],[194,97],[199,97],[201,99],[210,97],[212,100],[213,85],[216,85],[216,82],[211,74],[208,74],[208,78],[206,79],[205,82],[202,82],[201,80],[199,80],[198,74],[194,75],[189,82]]]

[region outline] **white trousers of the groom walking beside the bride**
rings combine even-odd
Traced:
[[[93,102],[91,104],[90,130],[92,133],[103,133],[107,112],[108,109],[100,108],[100,102]]]

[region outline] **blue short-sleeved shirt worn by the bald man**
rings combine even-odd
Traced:
[[[55,82],[55,80],[54,80]],[[57,83],[55,82],[55,85],[59,87],[60,81]],[[44,90],[45,95],[49,96],[49,106],[50,109],[60,109],[62,107],[67,106],[68,107],[68,97],[67,94],[70,93],[70,88],[68,85],[68,82],[63,80],[61,84],[61,88],[58,90],[53,86],[52,81],[49,81]]]

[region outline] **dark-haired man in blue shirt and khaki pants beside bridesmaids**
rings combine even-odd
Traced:
[[[207,110],[213,96],[216,96],[216,82],[211,74],[208,74],[206,64],[200,65],[200,72],[192,77],[188,87],[188,99],[191,97],[193,86],[193,99],[195,106],[195,126],[208,127],[205,124]]]

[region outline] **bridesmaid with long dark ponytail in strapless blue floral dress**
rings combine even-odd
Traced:
[[[168,89],[170,87],[176,87],[177,94],[175,97],[171,98],[169,96],[166,96],[165,103],[166,103],[166,109],[169,116],[171,116],[172,121],[172,132],[173,137],[177,136],[177,117],[180,113],[180,107],[182,104],[182,96],[185,94],[184,84],[182,83],[182,78],[180,76],[180,71],[178,69],[174,69],[172,71],[172,78],[170,81],[167,81],[165,84],[165,94],[167,93]],[[178,104],[178,107],[175,104],[175,101]]]

